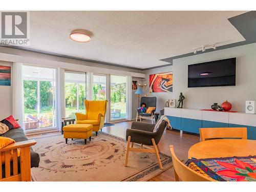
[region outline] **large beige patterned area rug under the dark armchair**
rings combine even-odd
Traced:
[[[40,164],[31,169],[33,181],[147,181],[173,166],[172,158],[164,154],[161,170],[155,154],[130,152],[125,167],[127,142],[103,132],[86,145],[83,139],[69,139],[66,144],[62,135],[36,141],[33,148]]]

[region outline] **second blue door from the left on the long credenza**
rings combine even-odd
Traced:
[[[199,134],[199,128],[202,127],[202,120],[181,118],[181,130]]]

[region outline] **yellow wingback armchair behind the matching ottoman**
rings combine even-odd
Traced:
[[[86,114],[76,113],[76,123],[92,124],[93,131],[96,132],[97,136],[98,131],[104,126],[107,103],[108,100],[85,100],[84,105],[86,106]]]

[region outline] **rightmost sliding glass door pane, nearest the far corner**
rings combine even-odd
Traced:
[[[126,119],[127,77],[110,75],[110,120]]]

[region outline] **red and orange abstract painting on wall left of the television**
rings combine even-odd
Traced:
[[[150,93],[173,92],[173,72],[150,75]]]

